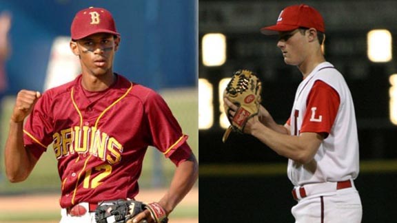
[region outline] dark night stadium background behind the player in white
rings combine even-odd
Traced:
[[[302,80],[285,65],[276,37],[259,29],[276,23],[285,6],[306,3],[325,19],[325,58],[345,76],[356,108],[360,175],[356,187],[363,202],[363,222],[395,222],[397,195],[397,126],[389,120],[389,76],[397,73],[397,1],[199,1],[199,78],[214,85],[214,125],[199,131],[200,218],[203,222],[293,222],[292,184],[287,159],[251,136],[234,134],[227,143],[218,125],[218,81],[238,69],[257,72],[263,80],[263,105],[285,123]],[[393,59],[367,58],[367,32],[387,29]],[[227,61],[217,67],[201,62],[201,39],[223,33]],[[200,94],[201,95],[201,94]],[[200,108],[199,108],[200,109]],[[211,204],[211,205],[208,205]]]

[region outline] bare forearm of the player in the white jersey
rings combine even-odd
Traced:
[[[289,136],[273,131],[260,123],[252,126],[251,134],[279,155],[303,164],[314,158],[321,143],[321,139],[317,138],[314,133]]]

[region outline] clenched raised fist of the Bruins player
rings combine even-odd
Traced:
[[[21,123],[32,112],[32,108],[37,100],[41,97],[40,92],[34,92],[23,89],[17,94],[14,110],[12,111],[11,120],[15,123]]]

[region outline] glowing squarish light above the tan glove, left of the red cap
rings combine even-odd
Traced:
[[[226,61],[226,36],[221,33],[205,34],[202,40],[203,64],[220,66]]]

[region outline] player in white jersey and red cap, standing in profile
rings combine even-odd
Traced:
[[[258,116],[247,121],[245,133],[289,158],[287,173],[298,201],[292,208],[296,222],[360,222],[362,206],[354,187],[359,170],[354,104],[343,76],[323,56],[323,17],[310,6],[289,6],[276,25],[261,31],[278,34],[285,63],[297,66],[303,81],[285,125],[276,124],[260,107]],[[225,103],[236,110],[229,100]]]

